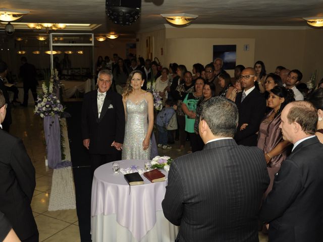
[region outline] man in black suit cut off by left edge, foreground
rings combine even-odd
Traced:
[[[35,169],[22,141],[2,130],[6,116],[0,91],[0,211],[22,241],[38,241],[30,203],[35,189]]]

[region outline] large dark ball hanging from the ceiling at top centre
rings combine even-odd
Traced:
[[[141,0],[106,0],[105,13],[112,22],[131,25],[140,16]]]

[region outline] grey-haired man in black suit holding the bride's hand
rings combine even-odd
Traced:
[[[92,173],[102,164],[121,160],[125,136],[122,96],[111,90],[113,75],[98,73],[98,89],[84,95],[82,106],[83,145],[89,150]]]

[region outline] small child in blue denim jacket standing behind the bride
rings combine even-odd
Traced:
[[[172,146],[167,144],[167,130],[177,129],[177,120],[175,110],[177,109],[174,100],[167,100],[165,107],[157,114],[156,124],[158,129],[158,147],[163,149],[172,149]],[[170,124],[171,123],[171,124]],[[171,127],[170,127],[171,126]]]

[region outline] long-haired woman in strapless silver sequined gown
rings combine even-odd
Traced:
[[[141,89],[141,71],[130,73],[123,94],[126,113],[125,139],[122,159],[150,159],[150,136],[153,128],[153,97]]]

